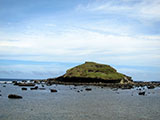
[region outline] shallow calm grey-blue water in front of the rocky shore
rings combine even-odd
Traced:
[[[4,87],[5,85],[5,87]],[[41,87],[41,85],[39,85]],[[86,91],[86,88],[92,88]],[[159,120],[160,88],[112,90],[96,86],[46,86],[46,90],[22,91],[0,83],[0,120]],[[50,88],[58,92],[51,93]],[[82,92],[77,92],[82,90]],[[23,99],[8,99],[18,94]]]

